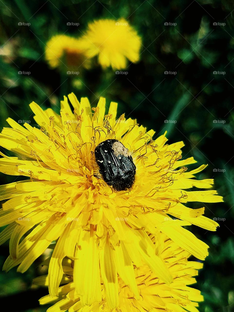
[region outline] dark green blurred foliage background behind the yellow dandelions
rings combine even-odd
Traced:
[[[111,100],[119,103],[119,115],[125,112],[137,118],[139,124],[155,129],[156,135],[167,130],[169,142],[183,140],[184,158],[193,156],[198,165],[208,163],[198,178],[214,178],[224,203],[205,203],[206,216],[225,220],[219,221],[217,232],[192,228],[210,246],[195,285],[204,295],[200,311],[205,312],[234,310],[233,10],[231,0],[0,1],[1,127],[7,126],[8,116],[35,124],[28,107],[33,100],[43,109],[52,107],[59,112],[59,101],[72,91],[78,98],[88,96],[93,105],[102,95],[107,104]],[[45,62],[45,45],[51,36],[79,37],[93,19],[120,17],[142,37],[141,61],[130,64],[127,75],[103,71],[95,64],[73,76],[52,70]],[[20,26],[19,22],[31,25]],[[79,22],[79,26],[68,26],[68,22]],[[31,73],[19,75],[18,71]],[[176,74],[166,75],[165,71]],[[2,184],[14,179],[1,174]],[[6,243],[0,266],[7,256]],[[48,308],[37,303],[47,290],[31,287],[32,278],[41,274],[40,262],[38,259],[23,275],[16,269],[0,273],[0,296],[7,311]]]

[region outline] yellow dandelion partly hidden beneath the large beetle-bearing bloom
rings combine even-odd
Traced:
[[[140,267],[134,265],[132,274],[135,276],[137,283],[135,290],[131,290],[129,287],[128,278],[125,274],[122,277],[120,275],[117,277],[119,302],[116,311],[198,312],[196,307],[198,307],[199,301],[203,301],[203,296],[199,290],[191,288],[190,285],[196,283],[193,276],[198,275],[198,269],[201,269],[203,264],[196,261],[188,261],[190,254],[164,234],[158,233],[157,236],[149,236],[155,244],[156,254],[165,262],[165,266],[172,276],[172,282],[165,284],[146,265]],[[117,263],[117,265],[120,265],[120,268],[122,267],[122,264]],[[93,302],[92,305],[86,305],[83,308],[84,298],[79,297],[80,290],[77,288],[75,270],[73,261],[69,258],[64,259],[63,285],[60,286],[58,294],[56,296],[47,295],[40,299],[42,305],[53,304],[47,311],[114,311],[112,302],[107,299],[103,283],[101,283],[101,301]],[[83,280],[84,287],[86,280]],[[48,286],[48,275],[36,277],[33,282],[36,285]]]

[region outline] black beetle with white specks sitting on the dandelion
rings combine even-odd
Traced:
[[[123,144],[115,139],[105,140],[94,150],[96,162],[103,180],[116,191],[131,188],[136,174],[136,166]]]

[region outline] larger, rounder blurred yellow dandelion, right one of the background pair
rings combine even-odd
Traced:
[[[133,63],[139,61],[141,37],[124,19],[101,19],[89,23],[82,39],[87,48],[86,55],[98,55],[103,68],[124,69],[127,59]]]

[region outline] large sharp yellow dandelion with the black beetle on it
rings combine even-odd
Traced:
[[[104,98],[95,108],[87,98],[79,102],[73,93],[68,98],[73,108],[64,96],[60,115],[30,104],[40,129],[8,118],[11,128],[0,134],[0,145],[18,155],[1,153],[0,172],[30,178],[0,187],[5,200],[0,226],[9,224],[0,242],[10,238],[3,269],[18,266],[17,271],[25,272],[57,241],[48,271],[50,295],[57,295],[62,261],[70,257],[84,305],[101,301],[100,267],[106,298],[114,308],[119,305],[118,275],[137,296],[132,262],[136,267],[146,264],[166,284],[173,279],[148,233],[164,233],[198,259],[208,255],[208,246],[183,226],[215,231],[218,224],[203,216],[204,207],[191,209],[184,203],[220,202],[222,197],[214,190],[201,190],[211,188],[213,179],[195,179],[206,165],[187,171],[186,166],[196,161],[181,159],[183,142],[165,144],[165,134],[153,140],[155,132],[136,120],[124,115],[117,119],[115,102],[105,115]],[[112,149],[105,149],[109,141]],[[107,156],[101,160],[97,152],[107,152],[104,157],[112,157],[112,162]]]

